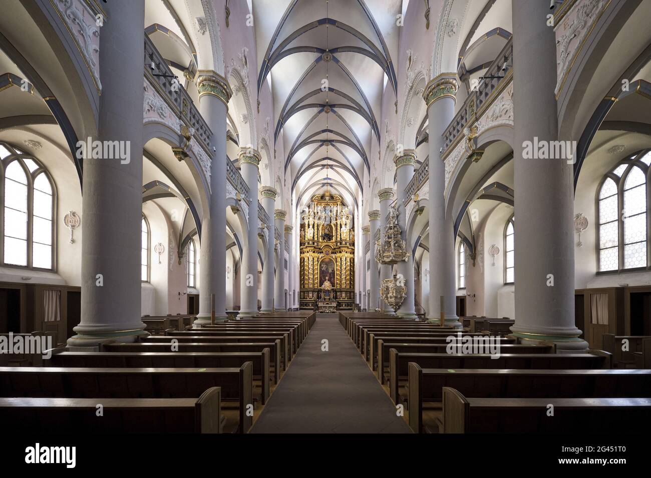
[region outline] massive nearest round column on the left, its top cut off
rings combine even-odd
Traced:
[[[86,152],[83,159],[81,322],[71,347],[147,334],[141,321],[145,0],[104,8],[111,20],[100,35],[102,96],[98,137],[90,140],[119,142],[124,157]]]

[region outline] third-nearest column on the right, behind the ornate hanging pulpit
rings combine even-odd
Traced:
[[[407,237],[407,213],[406,204],[409,198],[406,196],[407,186],[409,181],[413,178],[413,172],[416,165],[416,152],[414,150],[404,150],[402,155],[396,155],[393,159],[396,165],[396,209],[398,210],[398,226],[400,226],[400,237],[407,243],[407,248],[410,248]],[[411,250],[409,250],[411,253]],[[413,254],[409,255],[406,261],[400,261],[396,264],[398,277],[402,275],[407,286],[407,297],[402,301],[400,308],[396,312],[398,317],[404,319],[417,319],[416,309],[414,305],[414,289],[413,289]]]

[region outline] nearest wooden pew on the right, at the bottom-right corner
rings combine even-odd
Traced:
[[[443,388],[444,433],[622,433],[650,421],[648,398],[486,399]]]

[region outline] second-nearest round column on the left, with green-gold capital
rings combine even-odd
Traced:
[[[213,71],[200,71],[197,77],[199,111],[211,131],[224,131],[232,91],[226,79]],[[205,211],[201,227],[199,267],[199,314],[193,324],[201,327],[211,321],[215,295],[215,321],[226,317],[226,137],[215,134],[210,163],[210,208]]]

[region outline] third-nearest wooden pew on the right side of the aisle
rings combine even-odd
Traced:
[[[582,354],[413,354],[389,351],[389,395],[399,402],[400,382],[408,380],[409,362],[423,369],[609,369],[613,356],[608,352],[590,350]]]

